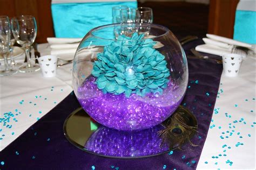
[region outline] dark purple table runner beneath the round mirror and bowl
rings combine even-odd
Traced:
[[[194,41],[184,48],[190,49],[201,43],[201,40]],[[165,153],[139,159],[104,158],[86,153],[70,144],[63,134],[66,117],[80,106],[76,96],[70,94],[0,153],[0,161],[5,162],[4,166],[0,165],[1,169],[92,169],[92,166],[95,169],[163,169],[164,165],[166,169],[196,169],[211,122],[222,65],[214,61],[188,59],[188,69],[190,88],[183,104],[198,119],[199,133],[192,143],[199,146],[186,144],[183,150],[173,151],[170,155]]]

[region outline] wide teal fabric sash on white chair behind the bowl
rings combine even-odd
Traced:
[[[82,38],[94,27],[111,24],[112,7],[117,5],[137,8],[137,1],[52,4],[55,37]]]

